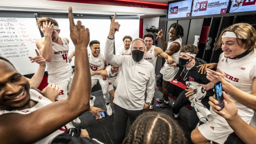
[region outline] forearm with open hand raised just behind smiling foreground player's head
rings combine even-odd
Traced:
[[[38,69],[36,70],[35,74],[33,75],[33,77],[27,78],[30,84],[30,87],[35,87],[38,88],[39,85],[41,84],[41,81],[44,77],[44,73],[45,73],[45,58],[43,56],[41,56],[37,50],[35,50],[36,52],[36,56],[35,57],[29,57],[31,61],[31,63],[37,63],[39,64]]]

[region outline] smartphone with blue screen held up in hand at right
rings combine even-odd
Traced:
[[[221,107],[221,110],[224,108],[224,97],[222,92],[222,83],[219,81],[218,83],[214,84],[214,92],[215,92],[215,98],[219,101],[219,107]]]

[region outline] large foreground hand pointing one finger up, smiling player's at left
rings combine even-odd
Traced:
[[[89,29],[85,26],[82,26],[82,22],[80,20],[77,21],[76,25],[74,23],[74,16],[72,13],[72,8],[68,8],[68,18],[70,23],[70,38],[75,45],[75,48],[81,48],[84,46],[87,48],[90,42],[90,32]]]

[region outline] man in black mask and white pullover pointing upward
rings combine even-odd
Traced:
[[[116,16],[116,15],[115,15]],[[145,42],[136,38],[131,42],[131,56],[113,54],[114,34],[119,31],[120,25],[115,22],[115,16],[110,24],[110,31],[106,40],[105,60],[119,69],[119,84],[114,97],[114,143],[122,143],[125,137],[128,117],[130,123],[147,109],[153,96],[155,75],[154,66],[143,58]],[[147,89],[147,98],[145,92]]]

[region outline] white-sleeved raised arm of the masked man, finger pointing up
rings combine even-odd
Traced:
[[[110,30],[109,30],[108,38],[106,40],[106,45],[104,49],[104,56],[105,56],[105,60],[108,61],[109,64],[112,64],[114,66],[120,66],[122,65],[123,56],[116,56],[113,54],[114,35],[116,31],[119,31],[119,27],[120,27],[120,24],[118,22],[115,22],[115,17],[116,17],[116,13],[110,24]]]

